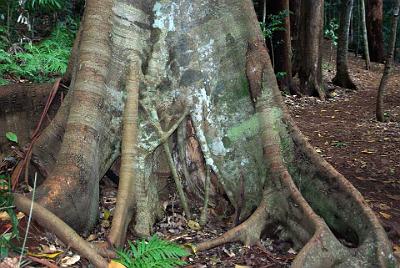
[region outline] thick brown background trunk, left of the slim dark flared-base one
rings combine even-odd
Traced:
[[[322,33],[324,1],[302,0],[299,30],[300,91],[325,99],[322,84]]]

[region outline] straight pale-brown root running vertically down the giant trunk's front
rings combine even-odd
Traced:
[[[140,60],[132,59],[127,77],[127,98],[124,108],[120,181],[117,206],[113,217],[110,242],[118,247],[125,242],[126,231],[133,216],[135,200],[135,158],[137,154],[137,117],[139,108],[139,68]]]

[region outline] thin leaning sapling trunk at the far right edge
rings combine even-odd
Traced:
[[[394,51],[396,47],[397,24],[398,24],[399,7],[400,7],[399,5],[400,5],[400,0],[396,0],[396,2],[393,5],[392,25],[390,28],[388,54],[386,56],[385,69],[383,70],[381,83],[379,84],[379,89],[378,89],[378,97],[376,100],[376,119],[380,122],[385,121],[385,114],[383,112],[383,99],[385,96],[385,89],[389,81],[390,73],[392,72],[394,63]]]

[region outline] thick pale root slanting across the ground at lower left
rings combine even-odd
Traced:
[[[20,194],[14,194],[14,203],[17,209],[25,214],[29,213],[31,200]],[[81,212],[83,213],[83,212]],[[33,203],[33,218],[54,234],[66,245],[75,249],[83,257],[87,258],[96,267],[107,267],[107,261],[98,253],[90,243],[80,237],[71,227],[65,224],[52,212],[37,203]]]

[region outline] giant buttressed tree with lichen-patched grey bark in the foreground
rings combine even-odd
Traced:
[[[75,230],[96,223],[99,180],[120,154],[123,128],[121,168],[134,175],[121,178],[111,243],[123,243],[130,222],[151,233],[160,174],[170,171],[178,189],[186,182],[182,204],[209,192],[241,222],[196,250],[256,244],[279,226],[299,249],[294,267],[395,265],[360,193],[288,115],[250,0],[88,0],[75,49],[69,92],[31,161],[46,177],[36,201]],[[48,210],[35,205],[34,217],[106,266]]]

